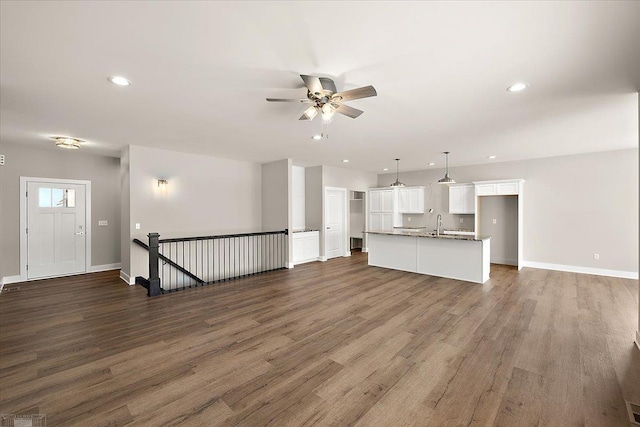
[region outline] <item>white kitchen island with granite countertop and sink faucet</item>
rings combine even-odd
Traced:
[[[366,231],[369,265],[484,283],[489,280],[490,237],[420,231]]]

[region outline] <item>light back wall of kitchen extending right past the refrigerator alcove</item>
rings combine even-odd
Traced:
[[[450,168],[458,182],[524,178],[524,260],[585,268],[638,272],[638,149],[494,162]],[[405,172],[407,185],[435,183],[442,169]],[[379,175],[388,185],[391,174]],[[390,181],[391,180],[391,181]],[[456,226],[448,189],[433,184],[433,214],[412,224]],[[425,205],[428,204],[425,197]],[[600,254],[594,260],[593,254]]]

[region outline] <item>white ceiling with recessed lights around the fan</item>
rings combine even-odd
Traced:
[[[2,1],[0,20],[2,142],[376,172],[638,146],[638,1]],[[265,101],[304,97],[300,74],[378,96],[316,142],[303,105]]]

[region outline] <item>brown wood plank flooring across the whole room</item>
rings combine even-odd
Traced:
[[[0,413],[48,426],[630,426],[640,402],[634,280],[356,253],[152,299],[115,271],[16,286]]]

